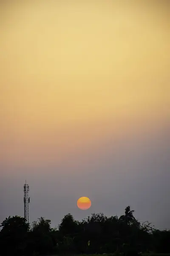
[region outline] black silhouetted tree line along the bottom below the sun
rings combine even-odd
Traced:
[[[42,217],[27,224],[25,218],[9,216],[0,225],[0,256],[170,253],[170,230],[156,230],[133,213],[127,206],[120,217],[98,213],[82,221],[67,214],[58,228]]]

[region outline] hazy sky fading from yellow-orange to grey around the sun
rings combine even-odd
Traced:
[[[169,0],[0,0],[0,222],[26,180],[30,222],[170,229],[169,29]]]

